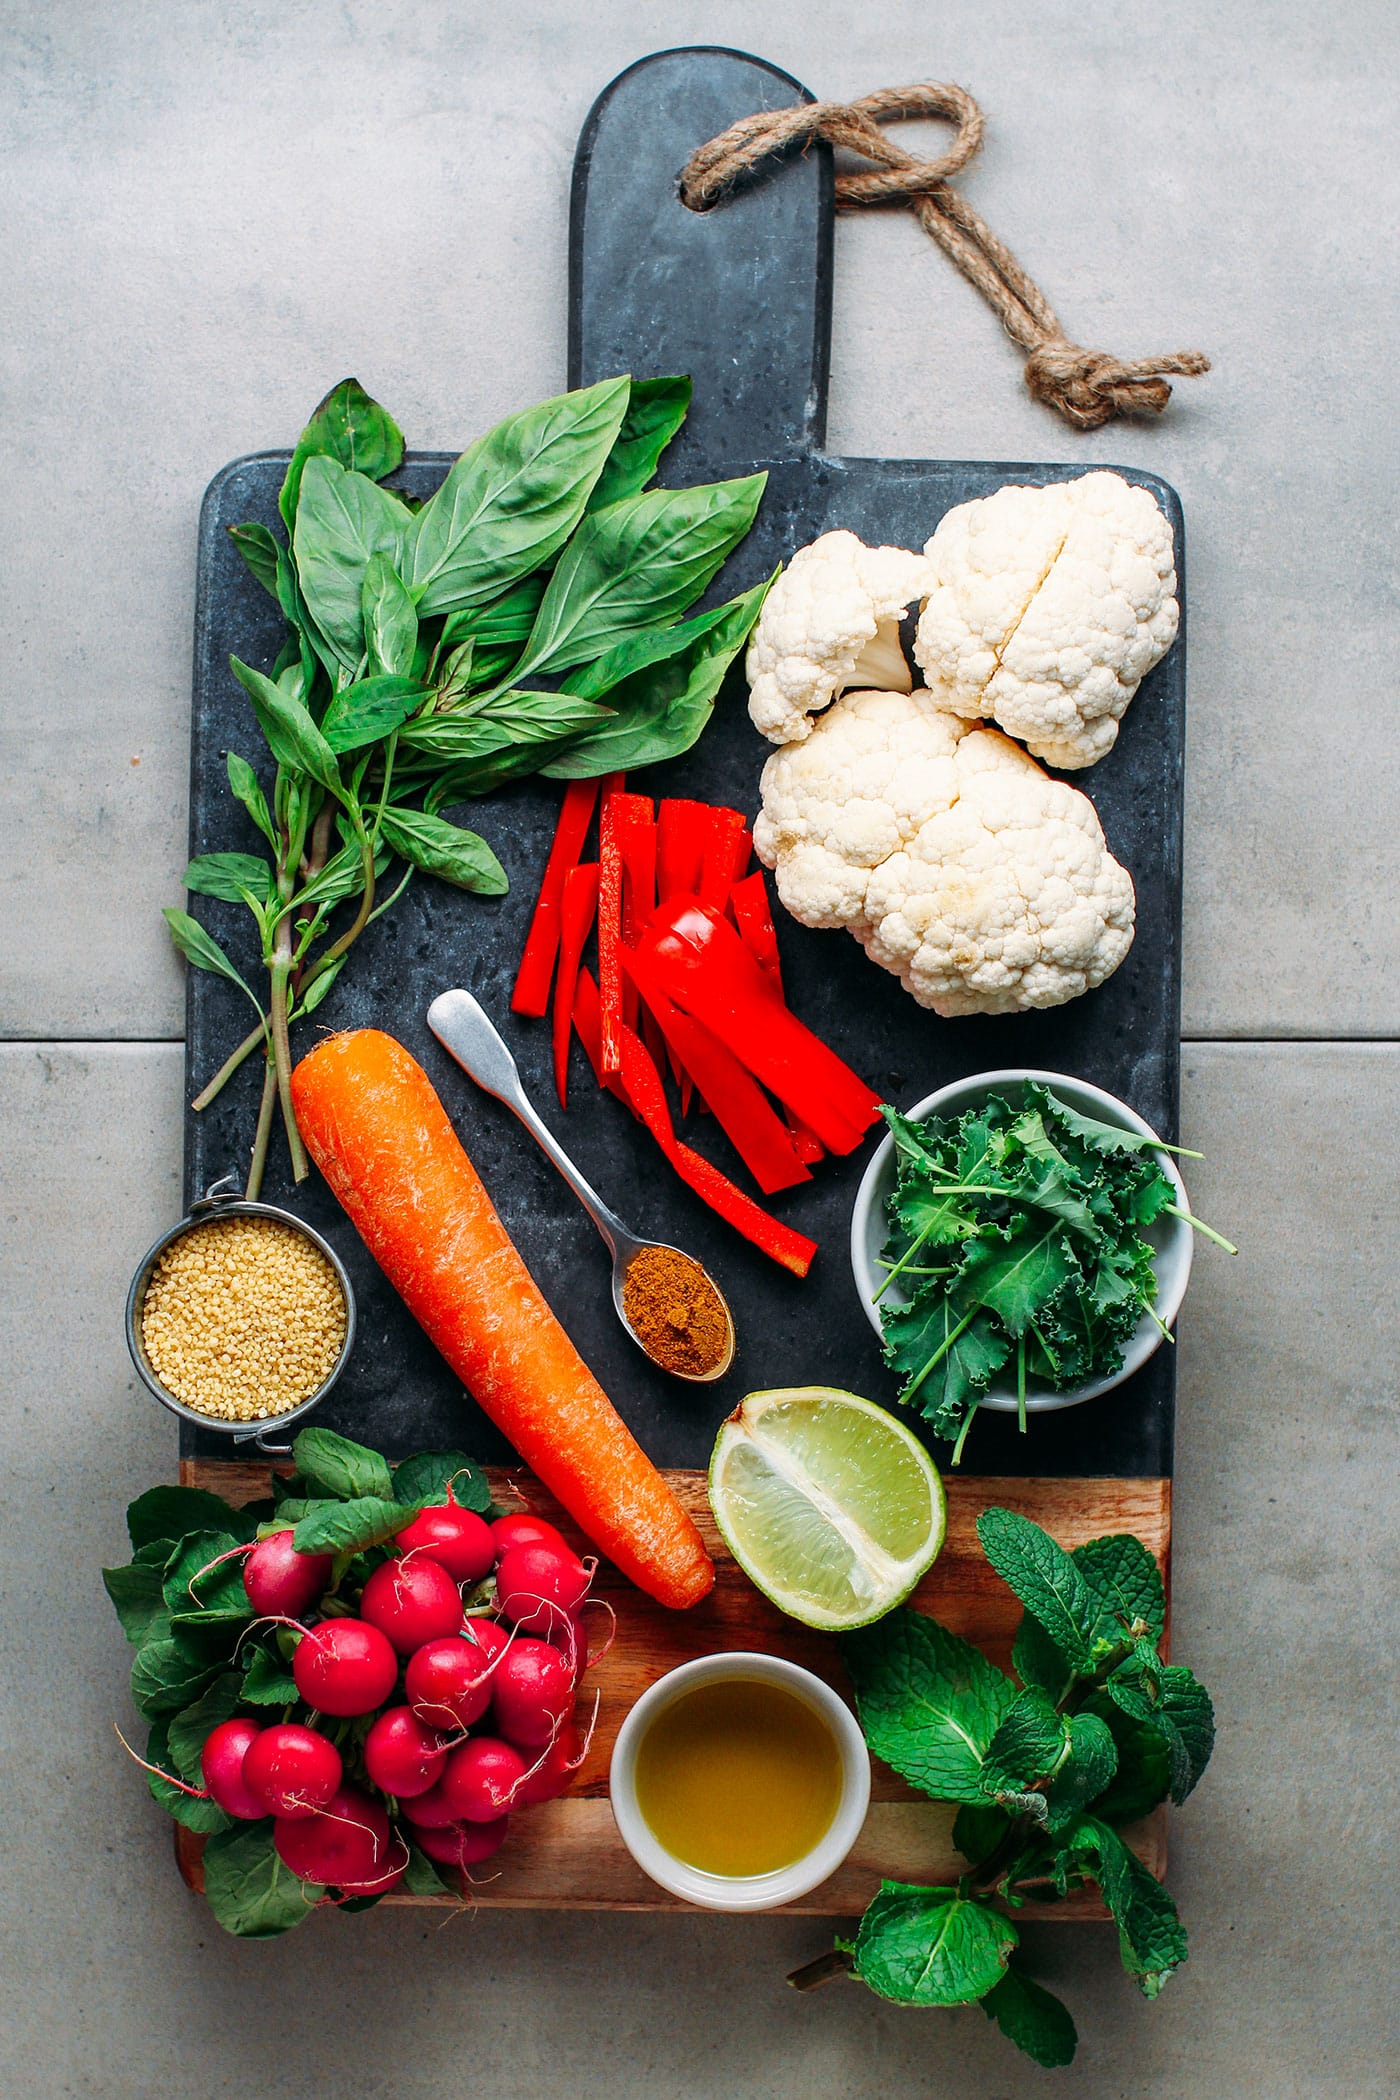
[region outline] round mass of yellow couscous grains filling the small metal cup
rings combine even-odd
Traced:
[[[277,1218],[214,1218],[151,1270],[141,1340],[168,1392],[201,1415],[260,1422],[321,1386],[344,1346],[336,1270]]]

